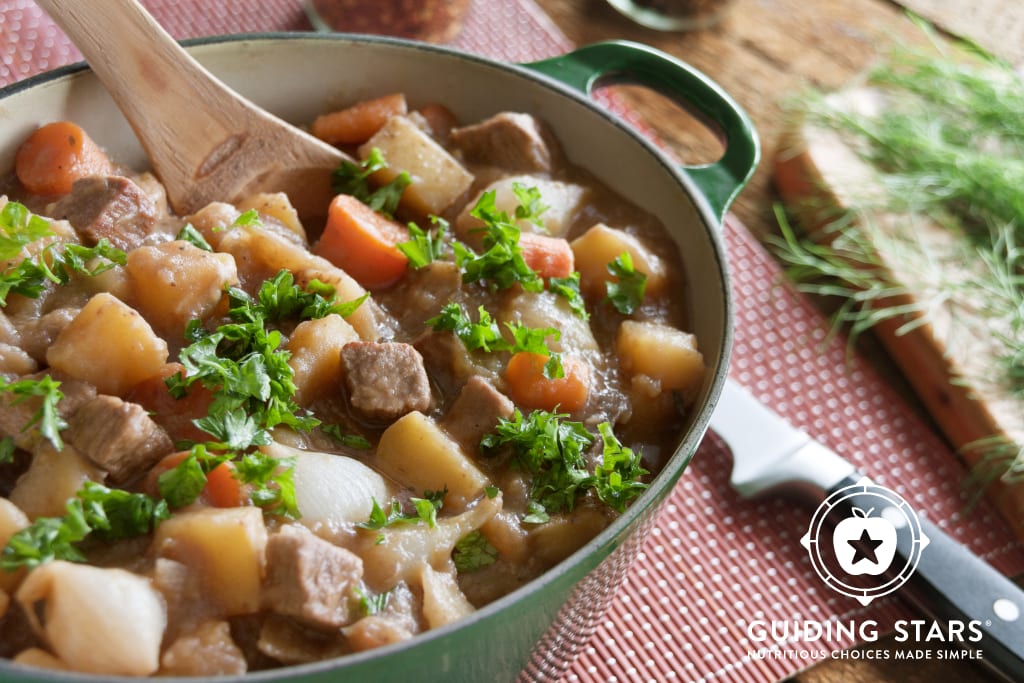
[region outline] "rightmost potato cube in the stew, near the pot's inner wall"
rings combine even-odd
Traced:
[[[625,321],[615,348],[627,373],[651,378],[663,391],[685,394],[703,381],[703,355],[697,350],[696,337],[671,326]]]

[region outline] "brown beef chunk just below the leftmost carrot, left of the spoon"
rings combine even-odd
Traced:
[[[76,180],[71,194],[56,202],[50,213],[71,223],[86,244],[95,245],[106,238],[125,251],[142,245],[157,224],[153,200],[135,182],[120,175]]]

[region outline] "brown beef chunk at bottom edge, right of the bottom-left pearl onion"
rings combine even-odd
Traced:
[[[160,657],[162,676],[230,676],[246,673],[246,657],[227,622],[209,621],[178,637]]]

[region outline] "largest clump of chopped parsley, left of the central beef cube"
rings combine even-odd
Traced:
[[[191,447],[189,456],[161,475],[161,495],[171,505],[195,501],[207,474],[229,460],[233,476],[248,486],[254,504],[270,514],[298,518],[294,462],[251,451],[268,444],[270,429],[278,425],[309,431],[319,420],[300,415],[290,353],[281,348],[281,332],[267,326],[286,318],[348,315],[366,299],[335,303],[334,295],[334,288],[317,281],[303,290],[291,272],[282,270],[264,282],[255,297],[239,288],[227,289],[232,322],[213,332],[199,321],[189,324],[185,336],[191,343],[178,357],[184,373],[169,377],[166,384],[178,398],[197,382],[213,393],[207,415],[193,421],[213,440],[185,444]]]

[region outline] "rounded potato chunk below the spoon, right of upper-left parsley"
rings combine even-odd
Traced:
[[[128,253],[135,304],[154,328],[180,338],[193,318],[216,308],[225,285],[238,285],[234,259],[184,241],[139,247]]]

